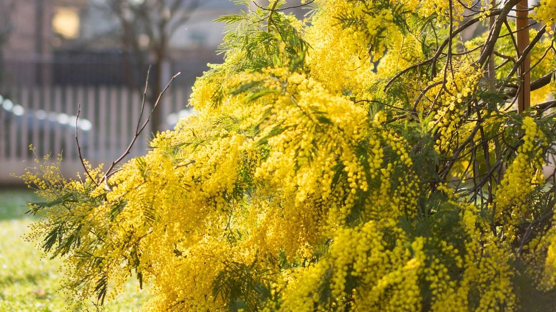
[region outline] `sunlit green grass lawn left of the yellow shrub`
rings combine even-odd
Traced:
[[[61,261],[50,260],[26,241],[29,225],[36,220],[23,215],[24,203],[37,197],[26,189],[0,189],[0,312],[96,311],[92,303],[71,305],[61,290]],[[128,281],[124,292],[106,304],[106,311],[137,311],[145,291]],[[71,305],[71,306],[70,306]]]

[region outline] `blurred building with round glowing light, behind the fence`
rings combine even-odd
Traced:
[[[120,24],[107,11],[106,1],[2,2],[11,4],[11,29],[8,41],[0,46],[0,88],[6,84],[143,83],[146,68],[137,69],[136,56],[122,47]],[[215,51],[224,24],[212,21],[232,11],[237,7],[231,1],[200,1],[190,20],[170,38],[167,70],[168,74],[182,72],[177,84],[191,85],[206,70],[207,63],[221,61]]]

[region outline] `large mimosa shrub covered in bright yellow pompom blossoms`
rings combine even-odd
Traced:
[[[515,112],[517,2],[320,0],[300,21],[271,1],[224,16],[198,114],[146,155],[111,175],[85,163],[76,180],[29,169],[46,199],[34,235],[64,256],[78,300],[112,298],[135,271],[152,285],[145,310],[553,306],[554,39],[531,41],[537,102]],[[548,27],[551,3],[535,9]],[[486,33],[461,36],[475,26]]]

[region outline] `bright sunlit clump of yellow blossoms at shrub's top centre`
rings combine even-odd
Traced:
[[[391,12],[374,5],[371,1],[321,1],[323,9],[304,38],[311,46],[307,55],[311,76],[326,88],[358,94],[375,82],[373,62],[383,56],[390,42],[385,38],[400,38],[400,32]],[[345,26],[342,18],[355,22]]]

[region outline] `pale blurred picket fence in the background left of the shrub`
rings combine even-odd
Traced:
[[[66,177],[83,172],[75,140],[76,114],[81,154],[93,166],[109,165],[133,139],[142,94],[122,87],[22,87],[0,90],[0,184],[22,184],[14,177],[32,167],[36,157],[62,153]],[[188,88],[171,87],[159,109],[167,129],[186,114]],[[150,109],[146,107],[143,120]],[[165,129],[161,129],[165,130]],[[128,158],[146,153],[150,127],[136,140]],[[29,145],[35,148],[35,154]],[[106,167],[106,166],[105,166]]]

